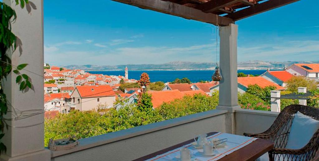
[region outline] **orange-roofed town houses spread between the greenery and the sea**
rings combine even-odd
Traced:
[[[90,74],[80,69],[63,67],[47,67],[44,69],[44,109],[46,116],[52,113],[69,113],[71,110],[91,111],[110,108],[121,108],[115,104],[117,99],[127,99],[134,103],[138,99],[140,88],[125,88],[123,84],[136,84],[138,80],[129,79],[128,68],[125,75]],[[318,80],[319,64],[293,64],[284,70],[267,70],[260,76],[244,75],[238,77],[238,92],[245,93],[249,85],[257,84],[264,88],[274,86],[276,90],[285,90],[286,81],[293,76],[303,76]],[[197,83],[166,82],[161,90],[148,90],[152,94],[153,108],[158,108],[163,102],[182,98],[184,95],[206,94],[211,96],[219,90],[219,82],[206,81]],[[53,112],[48,112],[53,111]]]

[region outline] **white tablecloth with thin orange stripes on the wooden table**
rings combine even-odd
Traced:
[[[218,154],[215,156],[205,156],[202,155],[198,152],[198,149],[196,149],[195,147],[193,147],[191,144],[187,144],[185,145],[190,151],[193,152],[193,154],[196,157],[197,161],[215,161],[218,160],[222,157],[225,157],[226,155],[248,145],[249,143],[253,142],[254,140],[256,140],[257,138],[254,137],[246,137],[246,136],[239,136],[239,135],[233,135],[233,134],[227,134],[227,133],[216,133],[212,136],[208,136],[207,137],[208,140],[211,140],[213,138],[218,138],[218,139],[224,139],[227,138],[227,142],[226,142],[226,146],[224,148],[218,148]],[[180,156],[180,148],[168,151],[164,154],[158,155],[156,157],[153,157],[151,159],[148,159],[148,161],[167,161],[167,160],[179,160],[176,159],[176,156]],[[202,150],[202,149],[201,149]]]

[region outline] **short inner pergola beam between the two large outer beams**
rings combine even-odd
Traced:
[[[197,10],[202,10],[203,12],[213,12],[221,8],[227,7],[231,4],[240,2],[241,0],[211,0],[206,3],[197,5],[194,7]]]

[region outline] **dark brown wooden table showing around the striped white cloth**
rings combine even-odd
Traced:
[[[216,134],[217,132],[210,132],[207,134],[207,136],[211,136]],[[135,159],[134,161],[140,161],[140,160],[147,160],[152,157],[156,157],[160,154],[164,154],[168,151],[174,150],[176,148],[182,147],[183,145],[189,144],[194,142],[194,139],[187,140],[185,142],[173,145],[171,147],[168,147],[163,150],[159,150],[157,152],[154,152],[152,154],[146,155],[144,157],[140,157],[138,159]],[[234,151],[233,153],[230,153],[226,155],[225,157],[222,157],[219,159],[219,161],[230,161],[230,160],[236,160],[236,161],[254,161],[258,157],[262,156],[264,153],[268,152],[274,147],[274,143],[270,140],[264,140],[264,139],[257,139],[253,141],[252,143],[240,148],[239,150]]]

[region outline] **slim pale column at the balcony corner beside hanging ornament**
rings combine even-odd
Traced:
[[[234,112],[235,109],[240,108],[237,89],[238,26],[229,24],[228,26],[220,27],[219,37],[219,67],[223,78],[219,82],[219,105],[216,108],[228,110],[226,132],[234,133]]]

